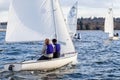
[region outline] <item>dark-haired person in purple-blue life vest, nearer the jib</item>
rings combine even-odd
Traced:
[[[53,58],[59,58],[60,57],[60,50],[61,50],[60,44],[57,43],[56,39],[53,39],[52,42],[54,45]]]

